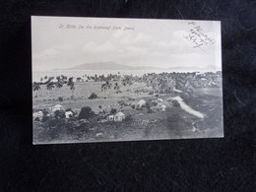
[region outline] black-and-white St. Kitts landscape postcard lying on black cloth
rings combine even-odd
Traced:
[[[221,22],[32,16],[32,142],[224,137]]]

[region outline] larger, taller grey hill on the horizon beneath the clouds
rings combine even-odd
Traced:
[[[131,67],[127,65],[120,65],[113,62],[104,62],[104,63],[86,63],[78,65],[76,67],[69,68],[68,70],[160,70],[160,67],[152,66],[138,66]]]

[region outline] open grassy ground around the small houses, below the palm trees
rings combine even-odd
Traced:
[[[220,112],[222,111],[221,89],[196,89],[193,96],[185,99],[188,105],[206,115],[202,120],[178,106],[173,107],[166,99],[169,95],[153,96],[148,93],[134,93],[136,89],[146,89],[145,84],[137,83],[131,87],[123,87],[121,94],[115,94],[113,90],[103,93],[100,91],[100,86],[101,84],[97,82],[77,84],[74,99],[70,98],[72,93],[67,87],[54,89],[49,93],[41,90],[39,91],[41,94],[38,93],[38,97],[33,99],[33,109],[43,109],[60,103],[64,108],[72,109],[91,106],[97,113],[98,105],[101,105],[106,111],[114,107],[126,115],[131,115],[130,121],[99,122],[98,119],[92,118],[88,123],[78,125],[71,119],[62,119],[59,120],[60,126],[55,129],[48,129],[43,122],[33,121],[33,141],[36,143],[77,143],[223,136],[222,112]],[[88,99],[93,92],[99,97]],[[64,100],[58,101],[58,96],[63,96]],[[149,113],[146,109],[137,110],[130,106],[141,98],[149,100],[158,97],[162,98],[167,106],[165,111]],[[129,98],[135,98],[135,100]],[[119,100],[130,103],[130,105],[120,106]]]

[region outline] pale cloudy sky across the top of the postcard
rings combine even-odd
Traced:
[[[200,37],[193,33],[197,27],[199,35],[204,35],[204,44],[194,47]],[[196,42],[189,39],[193,34]],[[211,66],[221,70],[221,23],[32,17],[32,71],[100,62],[160,68]]]

